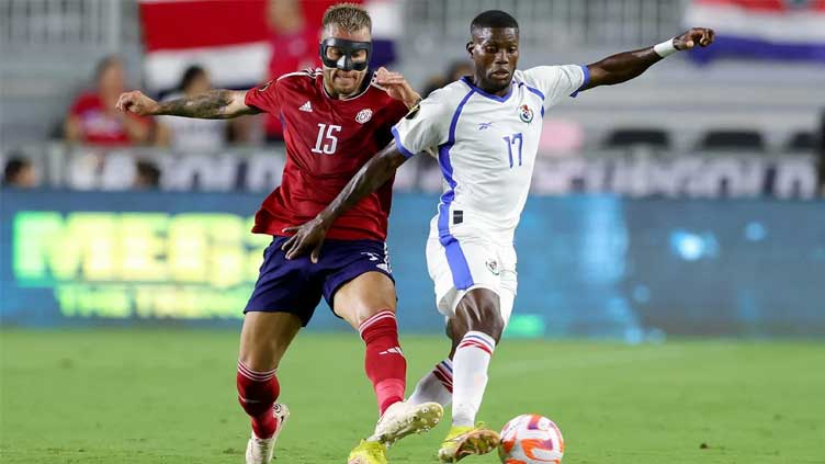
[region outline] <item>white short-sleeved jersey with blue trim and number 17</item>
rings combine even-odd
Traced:
[[[464,78],[431,93],[395,125],[395,143],[405,156],[438,154],[447,181],[434,219],[440,235],[450,235],[450,226],[466,218],[483,228],[478,231],[512,242],[544,112],[575,97],[588,77],[578,65],[517,70],[506,97],[488,94]]]

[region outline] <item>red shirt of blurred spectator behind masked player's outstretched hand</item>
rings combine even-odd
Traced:
[[[69,113],[80,120],[83,142],[97,145],[132,145],[122,117],[132,117],[148,124],[145,117],[133,113],[117,114],[114,109],[106,109],[97,93],[82,93],[72,103]]]

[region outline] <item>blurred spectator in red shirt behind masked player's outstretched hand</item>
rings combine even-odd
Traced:
[[[151,121],[115,109],[125,89],[125,70],[120,58],[103,58],[95,70],[97,88],[81,93],[69,109],[64,124],[66,140],[104,146],[144,144]]]

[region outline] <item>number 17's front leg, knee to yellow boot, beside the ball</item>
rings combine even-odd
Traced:
[[[439,450],[442,462],[456,462],[496,449],[498,432],[475,423],[487,387],[487,370],[505,328],[498,295],[473,288],[450,319],[453,342],[453,427]]]

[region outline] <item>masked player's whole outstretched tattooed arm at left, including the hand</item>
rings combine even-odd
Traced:
[[[117,109],[140,116],[183,116],[201,120],[228,120],[245,114],[260,113],[244,102],[246,91],[210,90],[195,97],[184,97],[168,102],[157,102],[139,90],[122,93]]]

